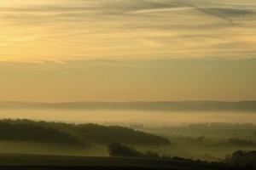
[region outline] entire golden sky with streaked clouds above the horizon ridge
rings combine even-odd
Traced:
[[[255,0],[0,0],[0,101],[256,100]]]

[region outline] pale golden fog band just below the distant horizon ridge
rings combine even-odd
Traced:
[[[144,126],[180,125],[193,122],[230,122],[256,123],[252,112],[218,112],[218,111],[56,111],[56,110],[2,110],[0,119],[31,119],[34,121],[98,123],[111,125]]]

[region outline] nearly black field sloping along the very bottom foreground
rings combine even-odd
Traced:
[[[201,161],[169,159],[93,157],[93,156],[46,156],[26,154],[1,154],[0,169],[4,170],[84,170],[84,169],[231,169],[223,164]],[[232,168],[233,169],[233,168]]]

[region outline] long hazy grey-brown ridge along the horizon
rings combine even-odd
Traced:
[[[256,101],[159,101],[159,102],[0,102],[3,109],[117,110],[117,111],[249,111],[256,112]]]

